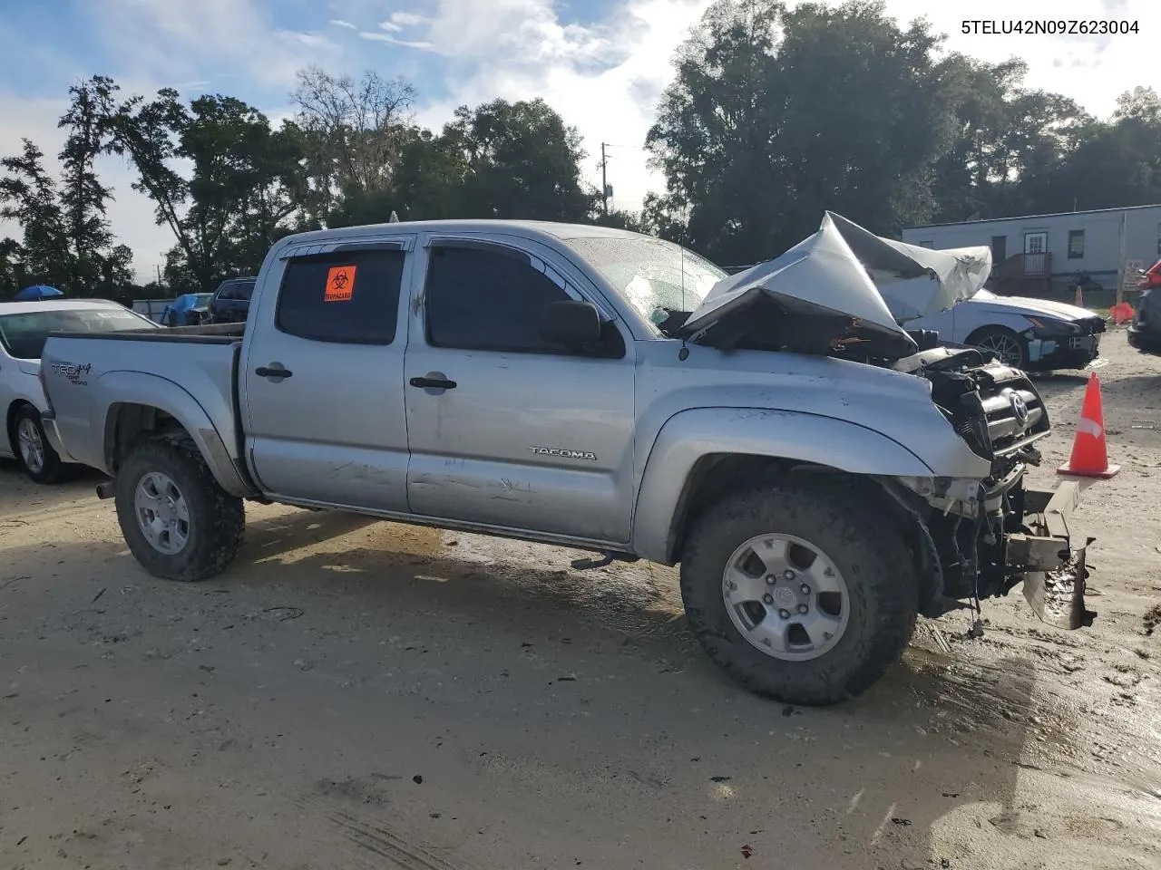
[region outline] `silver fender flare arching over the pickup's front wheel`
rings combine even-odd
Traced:
[[[664,422],[646,459],[633,513],[633,552],[673,564],[694,466],[723,454],[792,459],[851,474],[935,474],[897,441],[849,420],[765,408],[682,411]]]

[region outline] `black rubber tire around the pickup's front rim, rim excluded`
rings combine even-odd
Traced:
[[[846,581],[846,630],[816,659],[767,655],[727,610],[722,575],[731,553],[755,536],[777,532],[819,546]],[[873,502],[834,483],[787,480],[726,496],[695,521],[680,574],[686,617],[709,657],[751,691],[788,704],[835,704],[859,695],[899,661],[915,630],[920,578],[911,549]]]

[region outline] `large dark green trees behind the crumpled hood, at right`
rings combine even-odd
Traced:
[[[940,51],[879,0],[717,0],[675,58],[649,132],[651,231],[722,261],[785,249],[830,209],[907,225],[1161,202],[1161,104],[1109,122],[1024,86],[1023,61]]]

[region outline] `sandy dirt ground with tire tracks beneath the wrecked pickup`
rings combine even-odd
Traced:
[[[1095,626],[921,622],[830,709],[728,682],[665,568],[252,506],[167,583],[94,478],[0,465],[0,868],[1161,867],[1161,361],[1105,354]]]

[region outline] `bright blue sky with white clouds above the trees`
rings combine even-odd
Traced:
[[[642,150],[675,49],[709,0],[0,0],[0,153],[20,137],[49,154],[70,84],[111,75],[127,92],[176,87],[239,96],[273,118],[290,111],[294,74],[310,64],[358,75],[403,75],[418,89],[416,121],[440,126],[456,106],[496,96],[543,96],[585,138],[585,172],[599,176],[611,150],[614,205],[636,208],[661,187]],[[1154,10],[1156,7],[1156,10]],[[1108,115],[1133,85],[1161,85],[1151,46],[1161,35],[1155,0],[887,0],[901,21],[920,15],[949,34],[946,46],[988,60],[1029,61],[1029,84]],[[1117,19],[1139,22],[1117,37],[962,35],[961,21]],[[132,175],[102,164],[117,201],[114,231],[143,275],[172,245],[154,226]],[[12,233],[0,225],[0,234]],[[776,252],[772,252],[776,253]]]

